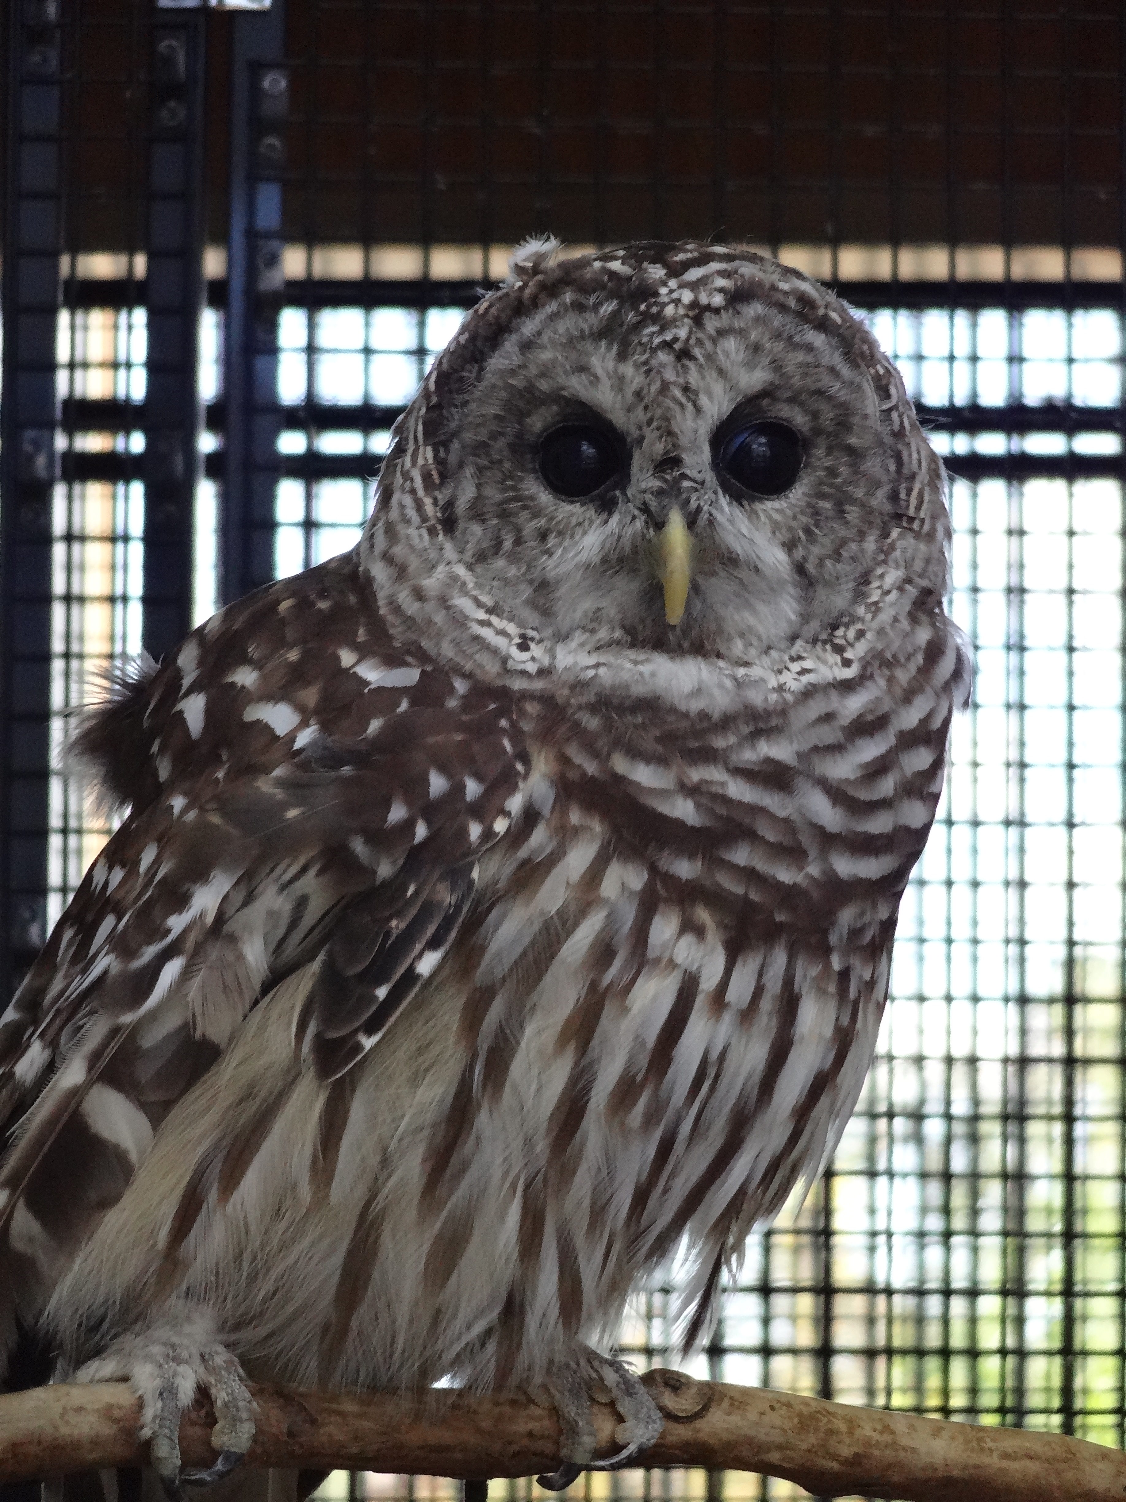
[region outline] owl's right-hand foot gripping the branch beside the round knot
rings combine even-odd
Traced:
[[[578,1359],[558,1367],[546,1382],[560,1424],[558,1452],[563,1464],[536,1476],[548,1491],[561,1491],[584,1470],[620,1470],[659,1437],[665,1421],[635,1371],[617,1356],[602,1356],[584,1346]],[[616,1455],[595,1460],[595,1424],[590,1404],[608,1389],[622,1422],[614,1439],[623,1446]]]

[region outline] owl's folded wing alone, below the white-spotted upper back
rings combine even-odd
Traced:
[[[108,843],[0,1018],[0,1116],[30,1101],[0,1164],[0,1232],[21,1212],[27,1242],[32,1211],[32,1241],[81,1241],[290,970],[320,957],[297,1045],[324,1078],[434,970],[528,763],[488,695],[396,697],[374,733],[176,784]]]

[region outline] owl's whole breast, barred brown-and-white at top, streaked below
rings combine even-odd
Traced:
[[[949,697],[793,709],[671,749],[524,727],[522,808],[434,976],[458,1078],[414,1170],[450,1223],[512,1227],[504,1307],[549,1265],[575,1329],[613,1323],[679,1245],[703,1307],[856,1104]]]

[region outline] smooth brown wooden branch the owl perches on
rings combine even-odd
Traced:
[[[652,1371],[668,1422],[649,1466],[785,1476],[808,1491],[899,1502],[1123,1502],[1126,1455],[1063,1434],[947,1424]],[[554,1410],[525,1397],[254,1386],[258,1433],[248,1464],[440,1476],[527,1476],[558,1463]],[[185,1464],[213,1458],[210,1410],[185,1415]],[[595,1410],[599,1452],[617,1415]],[[125,1383],[50,1386],[0,1397],[0,1481],[144,1463],[137,1400]],[[546,1493],[543,1493],[546,1502]],[[206,1493],[201,1493],[206,1502]]]

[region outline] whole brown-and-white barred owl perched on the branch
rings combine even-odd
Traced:
[[[0,1347],[128,1377],[171,1496],[248,1376],[545,1389],[554,1487],[641,1454],[628,1298],[679,1257],[698,1341],[872,1057],[968,685],[947,544],[829,291],[522,248],[359,545],[77,736],[125,817],[0,1018]]]

